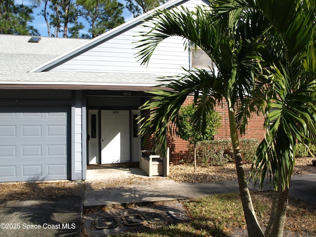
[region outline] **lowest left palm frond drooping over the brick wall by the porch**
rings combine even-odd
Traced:
[[[166,89],[155,89],[149,91],[153,95],[140,109],[149,111],[147,117],[141,118],[140,135],[153,135],[153,143],[166,144],[166,132],[178,134],[176,124],[178,123],[179,110],[189,95],[195,95],[195,101],[198,108],[201,108],[203,98],[201,95],[207,90],[209,99],[205,101],[203,113],[208,113],[213,108],[216,98],[220,100],[222,97],[221,91],[223,88],[217,85],[214,71],[197,70],[187,71],[183,76],[164,78]],[[198,110],[200,111],[200,110]],[[197,119],[197,123],[206,126],[205,117]],[[201,119],[201,120],[200,120]],[[161,147],[161,152],[165,152]]]

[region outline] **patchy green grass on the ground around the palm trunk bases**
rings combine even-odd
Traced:
[[[258,220],[267,225],[271,209],[271,194],[251,194]],[[112,237],[226,237],[232,230],[245,229],[245,220],[239,194],[214,195],[185,202],[191,220],[157,228],[143,228],[137,233],[112,235]],[[304,213],[302,215],[301,213]],[[316,234],[316,207],[290,198],[285,229]],[[292,218],[293,217],[293,218]],[[304,223],[304,230],[302,228]],[[308,230],[306,228],[308,227]]]

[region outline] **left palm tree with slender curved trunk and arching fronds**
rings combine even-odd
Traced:
[[[263,237],[258,224],[250,193],[245,179],[242,159],[240,156],[238,129],[236,123],[236,108],[244,103],[249,91],[253,90],[254,76],[258,75],[260,58],[259,49],[262,29],[250,31],[249,24],[240,22],[242,10],[236,9],[232,14],[213,18],[209,8],[197,7],[191,12],[182,8],[181,11],[158,11],[152,23],[154,27],[148,33],[142,34],[138,57],[147,64],[157,47],[164,39],[180,36],[185,39],[185,46],[194,50],[196,46],[208,54],[216,65],[214,70],[186,70],[182,76],[164,79],[166,90],[156,89],[153,98],[145,103],[143,110],[150,110],[150,117],[143,119],[141,135],[153,134],[157,144],[165,144],[166,131],[176,132],[178,112],[188,95],[194,94],[194,104],[197,106],[194,115],[195,124],[205,127],[205,117],[216,103],[227,101],[230,121],[230,132],[234,158],[237,168],[239,191],[249,236]],[[246,21],[255,26],[258,13],[248,14]],[[258,34],[256,34],[257,32]],[[169,124],[169,125],[168,125]],[[245,125],[246,122],[243,123]],[[241,127],[242,128],[242,127]],[[244,129],[241,129],[244,130]],[[162,146],[163,148],[163,146]]]

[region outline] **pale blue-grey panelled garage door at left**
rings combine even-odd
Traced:
[[[67,108],[0,108],[0,182],[67,179]]]

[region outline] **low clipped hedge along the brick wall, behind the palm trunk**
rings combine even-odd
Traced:
[[[240,150],[243,160],[252,162],[258,144],[259,142],[256,139],[240,139]],[[199,165],[223,165],[229,161],[233,161],[233,150],[230,139],[201,141],[197,143],[197,163]]]

